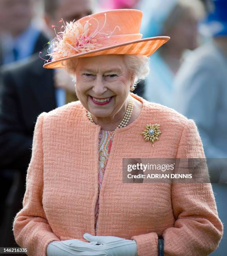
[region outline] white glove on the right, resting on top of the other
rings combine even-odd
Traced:
[[[98,255],[105,252],[108,256],[138,256],[135,240],[127,240],[116,236],[92,236],[89,233],[83,235],[91,243],[72,243],[70,248],[77,251],[98,252]],[[95,242],[93,244],[92,242]]]

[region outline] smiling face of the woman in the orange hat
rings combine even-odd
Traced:
[[[93,118],[121,119],[134,79],[123,56],[80,58],[76,67],[76,93]]]

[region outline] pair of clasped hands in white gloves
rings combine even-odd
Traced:
[[[47,256],[137,256],[135,240],[116,236],[92,236],[89,233],[85,233],[83,237],[90,243],[78,239],[53,241],[47,246]]]

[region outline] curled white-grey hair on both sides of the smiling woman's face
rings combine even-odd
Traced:
[[[130,74],[135,76],[134,86],[140,80],[145,79],[149,74],[149,57],[142,55],[134,55],[134,54],[124,54],[125,65],[128,68]],[[67,59],[63,61],[63,65],[67,73],[72,75],[73,81],[76,83],[76,67],[77,67],[78,59]]]

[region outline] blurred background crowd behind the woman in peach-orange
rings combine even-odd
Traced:
[[[143,37],[171,38],[135,93],[195,120],[207,159],[219,159],[209,171],[224,236],[212,255],[226,255],[227,0],[0,0],[0,247],[17,246],[37,116],[77,100],[64,70],[42,67],[55,26],[121,8],[143,11]]]

